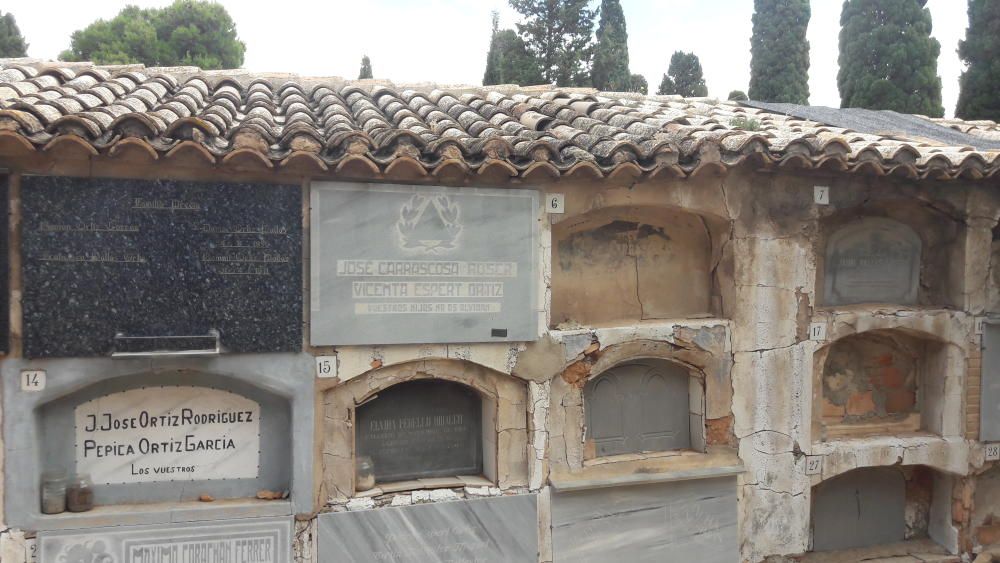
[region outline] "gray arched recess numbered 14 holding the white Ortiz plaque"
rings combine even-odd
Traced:
[[[36,416],[42,471],[88,474],[95,505],[290,492],[290,403],[234,378],[129,375],[50,401]]]

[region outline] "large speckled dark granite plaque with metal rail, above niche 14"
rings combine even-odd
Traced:
[[[301,348],[298,187],[26,177],[21,200],[27,357],[213,330],[223,351]]]

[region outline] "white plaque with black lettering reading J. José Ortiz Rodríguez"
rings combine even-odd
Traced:
[[[94,483],[255,479],[260,405],[208,387],[143,387],[78,406],[76,472]]]

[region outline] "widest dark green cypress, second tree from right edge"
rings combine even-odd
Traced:
[[[944,115],[926,0],[846,0],[840,14],[841,107]]]

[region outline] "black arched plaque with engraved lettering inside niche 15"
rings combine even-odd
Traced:
[[[483,471],[482,405],[475,391],[445,381],[411,381],[358,408],[358,455],[375,480],[478,475]]]

